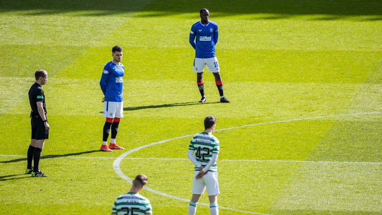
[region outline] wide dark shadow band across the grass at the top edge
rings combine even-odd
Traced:
[[[195,14],[206,7],[214,14],[326,14],[339,16],[378,15],[382,19],[381,0],[214,0],[190,3],[189,0],[4,0],[0,12],[30,11],[30,15],[84,12],[83,15],[114,15],[150,12],[153,16],[180,13]],[[28,14],[28,13],[27,13]],[[148,14],[149,15],[149,14]],[[283,17],[280,16],[279,18]],[[276,17],[277,18],[277,17]]]

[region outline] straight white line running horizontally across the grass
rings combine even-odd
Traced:
[[[20,157],[26,158],[25,155],[0,155],[0,157]],[[41,156],[42,158],[78,158],[78,159],[115,159],[115,157],[85,157],[85,156]],[[126,160],[182,160],[188,161],[188,158],[140,158],[125,157]],[[382,162],[357,162],[357,161],[304,161],[304,160],[230,160],[219,159],[219,162],[260,162],[260,163],[338,163],[338,164],[382,164]]]

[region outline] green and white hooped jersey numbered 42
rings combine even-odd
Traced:
[[[194,150],[195,158],[202,166],[207,165],[211,160],[212,154],[219,154],[219,140],[212,134],[206,132],[200,132],[195,134],[190,142],[189,149]],[[195,166],[195,171],[199,171],[199,168]],[[208,169],[209,172],[216,172],[216,162]]]

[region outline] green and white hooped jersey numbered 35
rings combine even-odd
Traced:
[[[115,200],[111,213],[117,213],[117,215],[145,215],[152,214],[153,211],[148,199],[140,194],[129,192]]]

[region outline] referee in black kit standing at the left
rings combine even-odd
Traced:
[[[45,139],[48,139],[50,129],[46,117],[45,95],[44,91],[41,89],[41,86],[48,81],[48,72],[40,69],[34,73],[34,76],[36,81],[32,87],[30,87],[28,92],[29,104],[32,109],[30,112],[32,137],[27,153],[28,164],[25,174],[32,174],[32,177],[47,177],[47,175],[39,170],[38,164],[40,162],[41,151],[44,147]],[[32,167],[32,160],[34,167]]]

